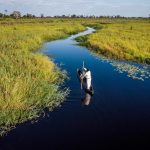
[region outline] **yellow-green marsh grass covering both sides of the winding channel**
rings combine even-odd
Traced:
[[[150,63],[148,19],[0,19],[0,134],[41,116],[64,101],[66,79],[47,56],[36,52],[45,41],[94,27],[77,40],[98,55]]]

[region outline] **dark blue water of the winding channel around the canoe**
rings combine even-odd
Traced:
[[[49,117],[12,130],[0,140],[0,149],[92,149],[96,146],[130,149],[149,146],[150,79],[133,80],[126,72],[115,71],[110,61],[76,45],[75,37],[91,32],[93,29],[88,28],[81,34],[43,46],[42,53],[67,70],[70,80],[65,86],[70,88],[70,95],[62,107],[49,113]],[[81,101],[84,93],[76,77],[76,69],[82,66],[83,60],[92,71],[95,90],[88,106]]]

